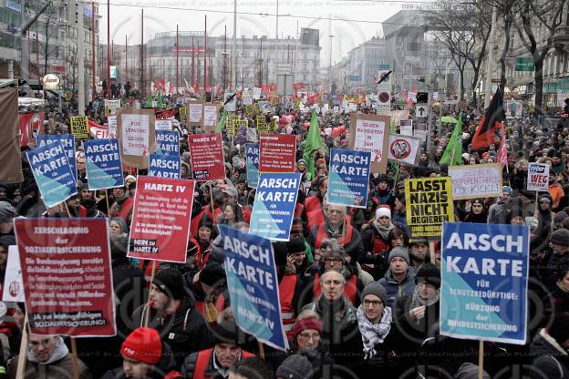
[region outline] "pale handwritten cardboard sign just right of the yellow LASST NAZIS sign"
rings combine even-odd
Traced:
[[[502,164],[450,166],[452,199],[477,199],[502,195]]]

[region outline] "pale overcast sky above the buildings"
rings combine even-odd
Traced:
[[[101,41],[107,39],[107,1],[100,4]],[[338,61],[353,47],[372,36],[381,36],[381,21],[413,3],[429,0],[350,1],[350,0],[279,0],[278,31],[281,36],[296,36],[302,27],[320,30],[320,60],[327,66],[332,38],[332,61]],[[125,6],[127,5],[127,6]],[[233,36],[233,0],[110,0],[110,36],[123,45],[140,44],[140,10],[144,8],[144,39],[155,33],[180,30],[203,31],[207,15],[208,34],[222,36],[227,26]],[[276,0],[237,0],[237,36],[270,36],[276,33]],[[240,14],[241,13],[241,14]],[[260,15],[261,14],[261,15]],[[268,14],[268,15],[263,15]],[[328,19],[318,19],[330,18]]]

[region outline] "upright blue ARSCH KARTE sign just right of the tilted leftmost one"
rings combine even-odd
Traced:
[[[83,144],[88,189],[112,189],[124,186],[119,139],[91,139]]]

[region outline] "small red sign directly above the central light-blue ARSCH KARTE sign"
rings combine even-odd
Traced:
[[[296,137],[264,134],[259,138],[259,172],[295,172]]]

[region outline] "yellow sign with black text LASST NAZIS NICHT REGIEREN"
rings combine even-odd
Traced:
[[[440,239],[442,223],[454,220],[449,177],[405,180],[409,241]]]

